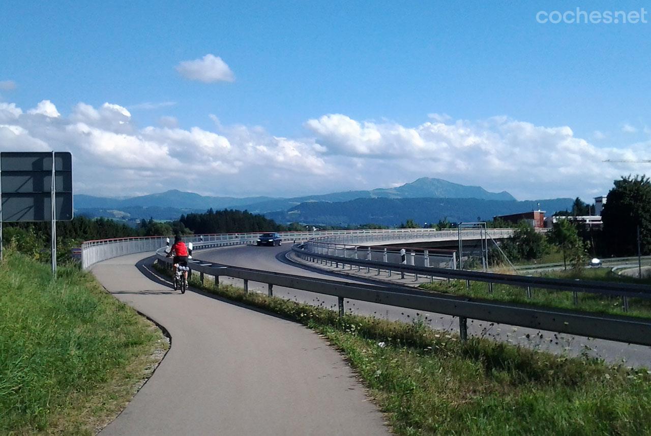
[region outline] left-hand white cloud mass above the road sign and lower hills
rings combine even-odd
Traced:
[[[75,189],[81,192],[118,196],[179,188],[245,196],[277,195],[290,186],[299,194],[320,189],[322,180],[312,177],[296,186],[297,179],[337,174],[318,156],[313,140],[279,138],[261,127],[236,125],[216,133],[180,129],[176,118],[165,117],[163,127],[139,129],[115,103],[78,103],[69,116],[44,118],[48,108],[41,104],[25,114],[13,103],[0,103],[0,149],[71,151]]]

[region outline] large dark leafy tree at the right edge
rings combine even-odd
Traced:
[[[637,253],[637,226],[641,251],[651,251],[651,181],[644,175],[622,177],[608,192],[602,212],[603,234],[611,254]]]

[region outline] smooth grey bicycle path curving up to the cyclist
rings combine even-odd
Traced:
[[[316,333],[227,300],[174,292],[144,257],[91,269],[172,338],[102,436],[390,434],[350,366]]]

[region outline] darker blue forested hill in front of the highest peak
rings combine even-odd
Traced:
[[[301,203],[285,212],[265,215],[276,222],[305,222],[322,225],[374,223],[398,225],[408,219],[418,224],[492,220],[493,216],[538,209],[553,214],[572,207],[573,199],[556,198],[533,201],[505,201],[477,198],[358,198],[342,202]]]

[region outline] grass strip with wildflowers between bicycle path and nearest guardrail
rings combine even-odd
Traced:
[[[191,284],[281,314],[326,337],[355,368],[398,435],[650,433],[646,370],[488,339],[462,343],[421,321],[339,318],[325,307],[245,294],[229,285],[202,286],[196,275]]]

